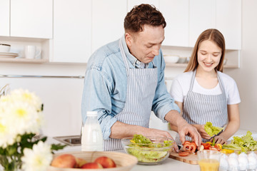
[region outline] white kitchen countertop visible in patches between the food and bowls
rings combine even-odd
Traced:
[[[175,138],[176,133],[174,131],[169,130],[173,138]],[[247,130],[238,130],[234,136],[243,136],[246,135]],[[253,133],[253,138],[257,138],[257,132],[251,131]],[[230,138],[229,140],[231,140]],[[54,140],[54,138],[48,138],[47,142],[49,143],[60,143],[57,140]],[[68,152],[68,151],[80,151],[81,146],[67,146],[64,148],[64,150],[59,150],[58,152]],[[119,151],[121,152],[121,151]],[[168,158],[160,165],[135,165],[131,171],[156,171],[156,170],[190,170],[190,171],[198,171],[200,170],[198,165],[190,165],[185,162],[180,162],[178,160],[173,160],[171,158]]]

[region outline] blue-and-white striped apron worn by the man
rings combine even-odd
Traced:
[[[129,68],[121,39],[119,41],[119,47],[126,66],[127,92],[124,109],[114,117],[121,123],[148,128],[158,81],[157,68],[154,64],[153,68]],[[120,139],[110,138],[109,140],[104,140],[105,151],[121,149],[123,147]]]

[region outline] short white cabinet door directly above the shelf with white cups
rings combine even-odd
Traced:
[[[52,38],[53,0],[11,0],[11,36]]]

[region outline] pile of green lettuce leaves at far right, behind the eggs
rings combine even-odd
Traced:
[[[223,145],[223,149],[241,150],[242,152],[257,150],[257,142],[253,140],[251,131],[247,131],[243,137],[233,136],[233,140],[228,145]]]

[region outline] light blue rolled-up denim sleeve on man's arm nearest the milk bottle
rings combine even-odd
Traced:
[[[104,140],[109,140],[111,127],[117,119],[111,113],[111,79],[98,66],[86,71],[81,103],[82,120],[86,121],[86,111],[97,111]]]

